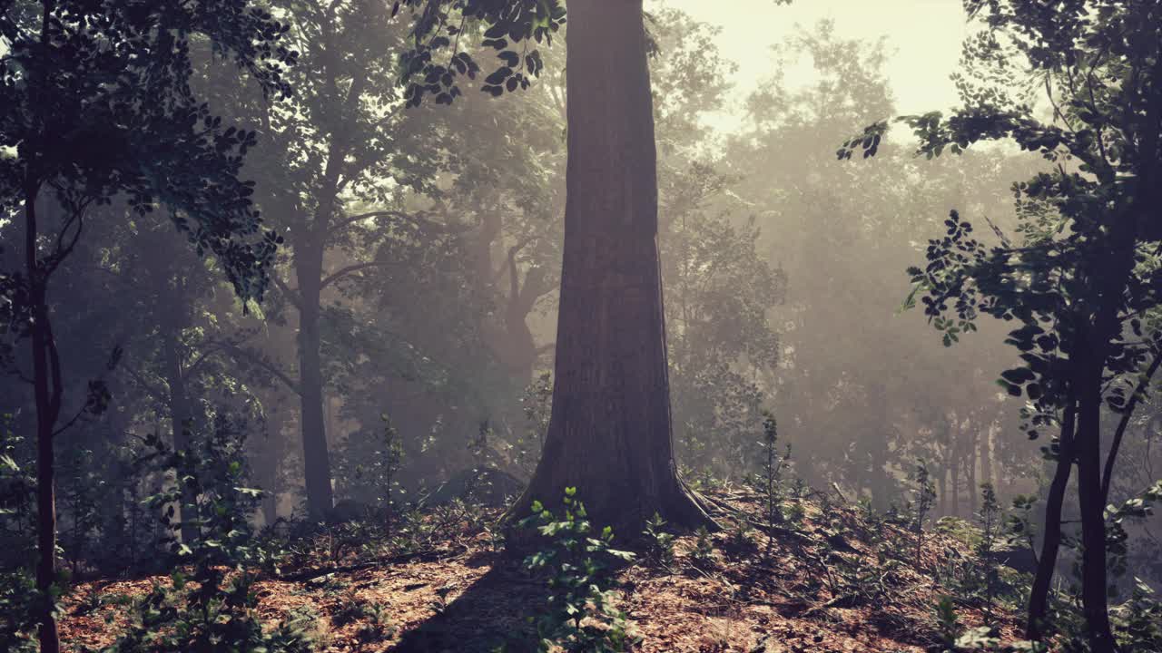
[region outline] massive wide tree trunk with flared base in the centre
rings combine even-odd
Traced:
[[[515,511],[576,487],[595,526],[712,524],[677,478],[641,0],[572,0],[568,199],[545,450]]]

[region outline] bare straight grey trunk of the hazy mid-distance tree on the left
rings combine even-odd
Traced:
[[[307,512],[322,519],[332,507],[331,461],[323,419],[323,368],[318,332],[322,246],[297,239],[295,273],[299,282],[299,397],[302,419],[302,454],[307,485]]]

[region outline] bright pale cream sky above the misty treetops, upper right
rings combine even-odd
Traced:
[[[894,52],[887,73],[901,114],[945,109],[956,100],[948,74],[967,34],[960,0],[794,0],[789,6],[774,0],[647,0],[647,6],[659,3],[723,28],[718,48],[739,65],[736,101],[768,73],[772,44],[796,24],[810,28],[823,19],[833,20],[845,38],[888,37]],[[729,129],[738,120],[722,116],[720,127]]]

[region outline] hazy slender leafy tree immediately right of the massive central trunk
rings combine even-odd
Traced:
[[[765,393],[755,376],[779,361],[768,315],[782,301],[786,277],[758,250],[753,216],[738,224],[715,208],[727,198],[729,177],[706,163],[675,177],[659,236],[675,444],[686,465],[731,478],[758,453],[753,433]]]

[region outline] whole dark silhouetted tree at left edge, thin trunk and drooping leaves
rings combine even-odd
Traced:
[[[207,38],[267,92],[286,93],[279,74],[294,56],[277,46],[281,34],[245,0],[0,3],[0,202],[2,215],[19,215],[23,229],[23,271],[9,279],[36,403],[36,580],[46,653],[59,650],[52,442],[70,424],[60,424],[64,379],[49,281],[80,239],[89,209],[123,193],[142,213],[167,204],[198,250],[220,259],[239,295],[261,296],[278,237],[261,232],[251,187],[238,179],[254,136],[224,128],[198,102],[188,46]],[[81,410],[105,403],[107,393],[91,387]]]

